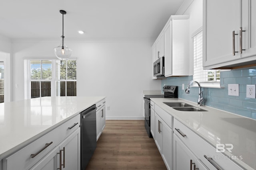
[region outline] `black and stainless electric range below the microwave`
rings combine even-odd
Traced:
[[[178,98],[178,86],[164,86],[163,91],[163,95],[144,96],[145,128],[148,133],[148,137],[152,137],[150,132],[150,98]]]

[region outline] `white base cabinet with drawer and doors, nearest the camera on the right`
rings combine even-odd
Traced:
[[[235,162],[222,153],[216,152],[216,147],[213,147],[204,139],[199,137],[196,133],[182,124],[180,121],[174,119],[174,170],[186,169],[181,168],[181,162],[188,162],[192,159],[190,152],[196,157],[192,159],[193,163],[199,162],[196,166],[205,165],[205,168],[210,170],[242,170]],[[183,144],[183,145],[182,145]],[[184,147],[186,146],[186,147]],[[188,152],[190,151],[190,152]],[[182,159],[181,155],[187,155],[187,159]],[[202,163],[197,160],[199,159]]]

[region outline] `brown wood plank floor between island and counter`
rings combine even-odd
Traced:
[[[106,120],[86,170],[166,170],[144,120]]]

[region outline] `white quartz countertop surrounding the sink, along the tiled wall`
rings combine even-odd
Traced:
[[[156,105],[200,135],[214,148],[216,144],[232,144],[227,156],[242,156],[233,161],[246,169],[256,169],[256,120],[214,109],[197,106],[196,103],[179,98],[150,98]],[[163,102],[184,102],[207,111],[178,111]]]

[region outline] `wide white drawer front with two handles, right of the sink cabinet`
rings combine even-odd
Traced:
[[[202,139],[188,127],[180,123],[180,121],[174,119],[173,127],[174,133],[178,137],[180,137],[180,139],[188,146],[188,148],[190,148],[192,152],[194,152],[194,154],[196,154],[196,156],[209,169],[216,169],[216,167],[212,165],[213,163],[223,170],[242,170],[242,168],[240,168],[236,163],[230,160],[228,156],[222,153],[217,153],[215,147],[210,145],[208,142],[204,141],[204,139]],[[204,155],[207,156],[208,158],[206,158]]]

